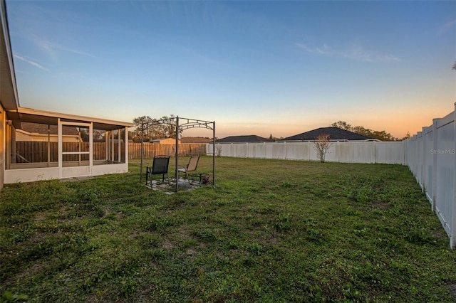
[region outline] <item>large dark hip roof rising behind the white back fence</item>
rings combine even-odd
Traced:
[[[329,134],[329,139],[331,140],[364,141],[372,139],[363,134],[356,134],[356,132],[350,132],[338,127],[320,127],[309,132],[303,132],[302,134],[295,134],[294,136],[281,139],[281,141],[313,141],[320,134]]]

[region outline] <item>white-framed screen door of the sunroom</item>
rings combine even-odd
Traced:
[[[79,139],[64,142],[63,128],[77,129]],[[88,134],[88,142],[83,142],[81,132]],[[86,136],[87,137],[87,136]],[[92,176],[93,168],[93,124],[78,122],[58,122],[58,174],[60,178]]]

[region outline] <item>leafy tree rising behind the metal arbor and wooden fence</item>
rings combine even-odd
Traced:
[[[149,142],[153,139],[176,137],[176,120],[174,115],[170,115],[170,117],[163,116],[160,119],[142,116],[133,119],[133,123],[135,124],[133,140],[137,142],[141,141],[141,125],[144,125],[144,142]],[[180,129],[179,134],[182,134],[182,129]]]

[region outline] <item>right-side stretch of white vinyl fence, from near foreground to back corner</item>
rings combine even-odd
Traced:
[[[406,140],[405,161],[425,191],[432,211],[456,248],[456,103],[455,111],[434,119]]]

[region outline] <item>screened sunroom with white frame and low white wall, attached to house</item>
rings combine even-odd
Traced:
[[[133,123],[23,107],[6,115],[5,184],[128,171]]]

